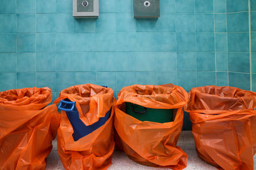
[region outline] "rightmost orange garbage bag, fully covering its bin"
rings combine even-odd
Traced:
[[[219,169],[251,169],[256,152],[256,93],[235,87],[191,89],[189,112],[198,156]]]

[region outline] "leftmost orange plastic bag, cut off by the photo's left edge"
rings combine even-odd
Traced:
[[[1,169],[45,169],[60,124],[51,99],[47,87],[0,92]]]

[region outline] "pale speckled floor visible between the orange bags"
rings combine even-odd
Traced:
[[[192,136],[191,131],[182,131],[180,134],[178,146],[184,150],[188,154],[188,165],[186,169],[196,169],[196,170],[212,170],[216,169],[213,166],[210,166],[209,164],[206,164],[203,160],[201,160],[195,150],[195,143]],[[156,167],[147,167],[147,166],[141,166],[140,164],[137,164],[136,162],[133,162],[131,159],[129,159],[125,153],[117,152],[115,151],[113,154],[112,159],[113,164],[108,168],[109,170],[164,170],[167,168],[156,168]],[[254,166],[256,167],[256,156],[254,157]],[[53,142],[53,148],[52,152],[47,158],[47,167],[46,170],[52,170],[52,169],[64,169],[64,167],[61,164],[58,151],[57,151],[57,143],[56,140]],[[256,169],[256,168],[255,168]]]

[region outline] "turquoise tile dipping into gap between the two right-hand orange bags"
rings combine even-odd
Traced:
[[[196,87],[197,78],[195,71],[178,72],[177,85],[183,87],[185,90],[190,90]]]

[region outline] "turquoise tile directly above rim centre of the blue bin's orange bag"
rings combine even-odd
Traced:
[[[76,84],[95,84],[96,83],[96,73],[95,72],[77,72],[76,73]]]

